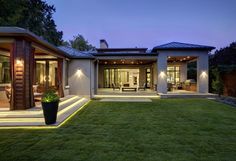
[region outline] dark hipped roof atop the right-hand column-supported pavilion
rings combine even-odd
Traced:
[[[187,43],[180,43],[180,42],[170,42],[167,44],[156,46],[152,49],[152,51],[157,50],[212,50],[215,49],[213,46],[206,46],[206,45],[197,45],[197,44],[187,44]]]

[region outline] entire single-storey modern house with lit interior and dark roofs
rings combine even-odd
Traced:
[[[212,49],[179,42],[151,50],[109,48],[101,40],[96,51],[77,51],[53,46],[22,28],[0,27],[0,106],[9,104],[11,110],[34,107],[48,88],[61,97],[90,98],[100,89],[208,93],[208,53]],[[196,79],[188,79],[189,62],[197,64]]]

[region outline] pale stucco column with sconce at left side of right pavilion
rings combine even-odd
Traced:
[[[157,93],[167,93],[167,55],[159,54],[157,59]]]

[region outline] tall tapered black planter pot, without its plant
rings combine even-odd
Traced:
[[[57,121],[58,104],[59,104],[59,101],[42,102],[43,115],[44,115],[45,123],[47,125],[54,124]]]

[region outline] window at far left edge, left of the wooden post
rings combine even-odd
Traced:
[[[10,58],[0,55],[0,84],[10,82]]]

